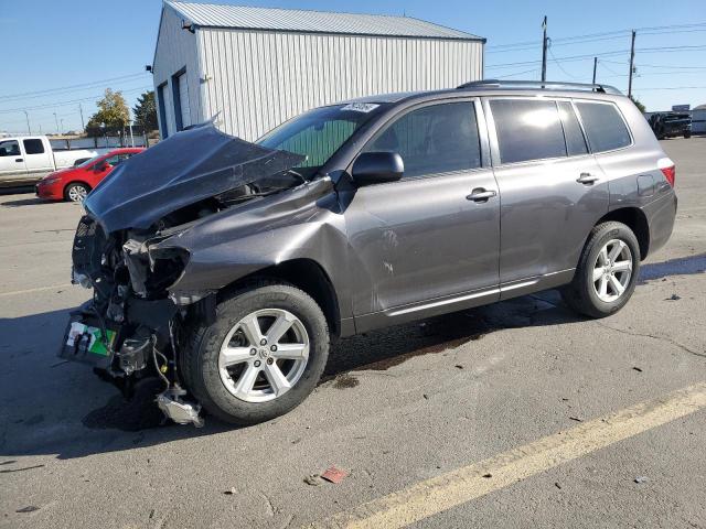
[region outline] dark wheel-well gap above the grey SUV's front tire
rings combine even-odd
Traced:
[[[321,307],[331,336],[340,336],[341,312],[339,296],[331,278],[317,261],[297,258],[259,269],[222,288],[217,293],[217,301],[227,298],[234,290],[238,290],[258,279],[285,281],[309,294]]]

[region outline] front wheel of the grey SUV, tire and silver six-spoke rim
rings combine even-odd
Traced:
[[[216,307],[194,331],[186,384],[203,407],[238,425],[287,413],[315,388],[329,356],[319,305],[287,283],[259,281]]]

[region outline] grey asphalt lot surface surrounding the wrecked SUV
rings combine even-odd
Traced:
[[[662,144],[675,231],[621,312],[547,291],[345,339],[243,429],[56,358],[81,207],[0,196],[0,527],[706,527],[706,138]]]

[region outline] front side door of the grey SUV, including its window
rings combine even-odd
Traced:
[[[360,187],[345,210],[359,331],[498,299],[500,197],[484,129],[480,102],[435,101],[363,148],[399,153],[405,171]]]

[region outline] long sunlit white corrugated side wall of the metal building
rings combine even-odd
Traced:
[[[183,30],[180,30],[183,31]],[[475,41],[196,30],[200,120],[255,140],[313,107],[392,91],[454,87],[482,77]],[[172,52],[176,53],[176,52]],[[193,111],[193,110],[192,110]]]

